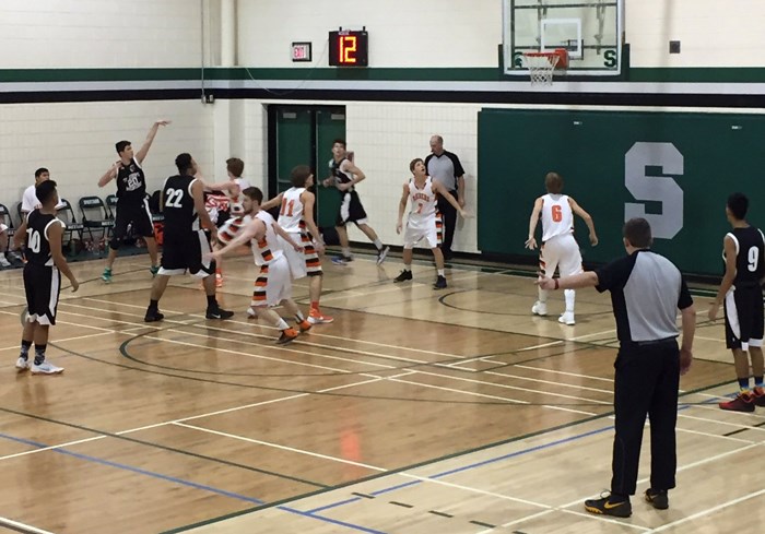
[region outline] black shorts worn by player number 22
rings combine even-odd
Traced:
[[[212,251],[210,237],[204,230],[172,235],[165,230],[160,274],[186,274],[204,278],[215,272],[215,262],[205,258]]]

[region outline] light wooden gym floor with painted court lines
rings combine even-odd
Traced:
[[[678,489],[633,517],[584,511],[609,487],[615,331],[608,295],[577,324],[532,317],[532,278],[455,265],[393,284],[400,260],[325,261],[332,324],[289,346],[248,321],[255,266],[226,262],[205,321],[190,277],[145,325],[145,257],[73,264],[48,357],[16,375],[21,271],[0,272],[0,531],[25,533],[719,533],[765,521],[765,411],[726,413],[733,368],[696,298],[696,361],[681,382]],[[68,284],[66,284],[68,285]],[[305,281],[295,286],[305,304]],[[647,437],[647,434],[646,434]],[[644,444],[638,494],[647,487]]]

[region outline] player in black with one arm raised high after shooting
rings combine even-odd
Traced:
[[[152,260],[150,268],[152,275],[156,275],[157,266],[156,240],[154,239],[154,223],[149,210],[146,198],[146,177],[143,174],[141,164],[149,154],[149,149],[154,141],[161,126],[169,124],[169,120],[157,120],[149,130],[143,146],[133,155],[133,147],[130,141],[120,141],[115,145],[119,159],[98,180],[98,187],[104,187],[113,179],[117,180],[117,214],[115,226],[109,241],[109,256],[106,258],[106,268],[101,276],[106,283],[111,282],[111,266],[117,258],[117,250],[127,237],[128,226],[132,225],[133,232],[138,233],[146,241],[149,257]]]

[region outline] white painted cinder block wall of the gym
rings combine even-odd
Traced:
[[[1,67],[217,64],[220,1],[3,0]],[[501,0],[291,0],[289,9],[282,0],[238,0],[237,4],[238,64],[251,68],[326,68],[327,33],[341,25],[366,26],[370,32],[373,68],[494,67],[502,40]],[[625,33],[634,67],[760,67],[752,50],[765,40],[760,31],[763,22],[765,3],[757,0],[725,7],[713,0],[640,0],[626,2]],[[681,55],[668,54],[670,38],[682,41]],[[293,40],[314,43],[313,63],[290,61]],[[296,81],[295,87],[299,85]],[[12,209],[38,166],[51,169],[70,200],[94,192],[95,181],[115,158],[114,143],[125,138],[140,145],[160,117],[173,119],[174,124],[160,132],[146,161],[152,189],[173,173],[173,158],[185,151],[195,154],[205,175],[215,179],[225,176],[225,157],[240,156],[250,180],[264,187],[267,104],[0,105],[0,202]],[[433,133],[444,135],[446,147],[459,154],[472,176],[468,202],[474,209],[480,105],[340,104],[346,105],[350,147],[369,176],[362,186],[363,198],[385,240],[398,242],[393,225],[400,186],[409,161],[427,154]],[[458,250],[475,250],[475,225],[476,219],[468,221],[458,232]]]

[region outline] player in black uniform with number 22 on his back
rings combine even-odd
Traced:
[[[160,206],[165,215],[165,242],[162,264],[151,290],[145,322],[162,321],[160,299],[167,288],[170,276],[185,274],[203,278],[208,297],[208,319],[228,319],[234,312],[221,309],[215,299],[215,262],[210,262],[210,237],[202,227],[214,236],[215,225],[204,210],[204,183],[195,177],[197,162],[190,154],[179,154],[175,158],[178,175],[170,176],[162,187]]]

